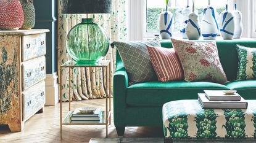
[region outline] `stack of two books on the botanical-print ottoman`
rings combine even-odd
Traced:
[[[198,94],[198,101],[202,108],[214,109],[247,109],[248,103],[238,93],[225,95],[223,90],[204,90]]]

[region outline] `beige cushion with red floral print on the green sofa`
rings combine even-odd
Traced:
[[[207,81],[225,84],[216,42],[190,42],[171,39],[181,61],[187,82]]]

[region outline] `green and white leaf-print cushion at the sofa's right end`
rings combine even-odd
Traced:
[[[256,48],[236,45],[238,55],[237,80],[256,79]]]

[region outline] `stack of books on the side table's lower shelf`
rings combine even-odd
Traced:
[[[79,109],[75,109],[70,117],[71,123],[102,123],[104,111],[96,109],[94,114],[82,114]]]

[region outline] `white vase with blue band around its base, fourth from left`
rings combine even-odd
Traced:
[[[202,17],[202,36],[205,40],[215,40],[218,35],[218,22],[215,17],[215,9],[209,5],[204,9]]]

